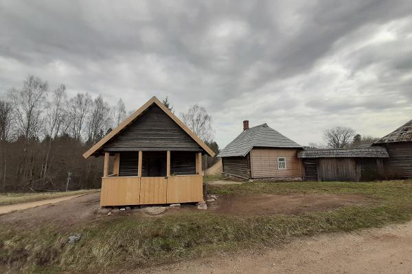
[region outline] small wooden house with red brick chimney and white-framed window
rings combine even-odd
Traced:
[[[301,145],[266,124],[249,128],[220,151],[222,173],[242,179],[301,179]]]

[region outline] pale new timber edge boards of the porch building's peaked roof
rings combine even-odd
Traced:
[[[179,127],[181,127],[181,129],[183,129],[187,134],[189,134],[189,136],[195,142],[197,142],[198,145],[201,146],[202,149],[205,149],[205,151],[211,157],[214,157],[215,153],[209,147],[207,147],[205,142],[203,142],[201,139],[199,139],[198,136],[196,136],[196,134],[194,134],[192,132],[192,130],[190,130],[182,121],[180,121],[180,119],[177,118],[168,108],[166,108],[165,105],[163,105],[163,103],[161,103],[161,101],[159,101],[159,99],[157,99],[155,96],[152,97],[152,99],[150,99],[149,101],[147,101],[144,105],[142,105],[141,108],[139,108],[139,110],[136,110],[132,115],[130,115],[126,120],[124,120],[119,126],[117,126],[115,129],[113,129],[111,132],[109,132],[106,136],[104,136],[104,138],[102,138],[102,140],[100,140],[98,143],[93,145],[93,147],[91,147],[91,149],[89,149],[88,151],[86,151],[83,154],[83,157],[84,158],[89,158],[91,155],[96,153],[96,151],[101,149],[106,144],[106,142],[111,140],[113,137],[117,136],[117,134],[119,134],[119,132],[121,132],[122,129],[128,127],[128,125],[133,123],[133,121],[135,121],[135,119],[138,119],[139,116],[141,116],[141,114],[143,114],[145,112],[145,110],[147,110],[150,107],[150,105],[153,105],[153,104],[155,104],[159,108],[161,108],[161,110],[163,110],[163,112],[165,112],[165,114],[167,114],[177,125],[179,125]]]

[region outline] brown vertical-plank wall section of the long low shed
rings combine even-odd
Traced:
[[[319,181],[352,181],[361,180],[361,167],[354,158],[321,158],[318,166]]]

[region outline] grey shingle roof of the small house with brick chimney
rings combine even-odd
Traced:
[[[301,145],[264,123],[244,130],[220,151],[218,157],[244,157],[253,147],[301,148]]]

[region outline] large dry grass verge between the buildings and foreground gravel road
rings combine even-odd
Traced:
[[[412,219],[412,180],[388,182],[255,182],[208,186],[209,193],[333,193],[376,198],[377,203],[304,214],[233,216],[195,211],[159,218],[117,216],[75,227],[43,225],[27,231],[3,226],[0,266],[16,273],[114,273],[211,256],[219,251],[281,246],[296,238]],[[77,243],[67,237],[81,234]],[[1,267],[0,267],[1,269]]]

